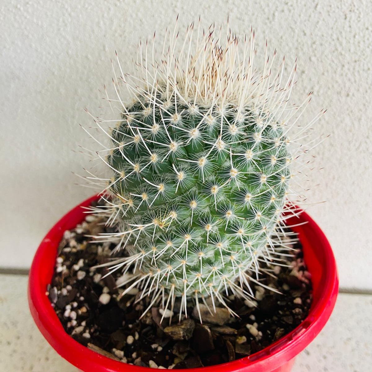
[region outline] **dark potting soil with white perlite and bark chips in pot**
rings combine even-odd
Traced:
[[[260,281],[278,289],[276,294],[256,286],[256,301],[244,303],[230,296],[233,318],[224,308],[211,317],[201,305],[203,324],[190,302],[188,319],[178,323],[175,315],[160,324],[159,308],[141,319],[148,298],[131,295],[118,300],[122,275],[101,279],[105,269],[91,270],[105,262],[112,247],[89,243],[85,235],[106,232],[104,221],[88,215],[74,230],[65,231],[56,259],[48,296],[65,331],[90,349],[112,359],[153,368],[210,366],[251,355],[296,328],[307,316],[311,301],[310,274],[303,262],[301,244],[295,243],[291,267],[272,266],[276,278],[261,275]],[[193,311],[194,310],[194,311]],[[196,315],[194,317],[194,315]]]

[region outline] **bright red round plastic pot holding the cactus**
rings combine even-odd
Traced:
[[[51,307],[45,291],[51,282],[58,244],[63,232],[74,228],[83,221],[83,206],[88,206],[98,196],[87,199],[76,206],[51,228],[42,240],[32,262],[28,300],[33,319],[49,344],[77,368],[85,372],[148,372],[148,368],[128,365],[102,356],[81,345],[63,329],[60,320]],[[336,263],[327,238],[318,225],[303,212],[299,217],[292,217],[288,224],[298,225],[293,228],[301,240],[305,262],[312,275],[313,302],[308,317],[291,333],[272,345],[251,356],[203,368],[207,372],[289,372],[298,355],[324,327],[336,302],[338,276]],[[201,368],[189,369],[200,372]]]

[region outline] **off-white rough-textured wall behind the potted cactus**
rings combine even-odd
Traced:
[[[230,15],[234,31],[253,25],[288,60],[298,56],[294,99],[314,90],[318,147],[309,203],[327,234],[343,288],[372,289],[371,86],[372,14],[362,1],[0,1],[0,266],[28,267],[48,228],[90,195],[71,171],[87,160],[87,125],[112,76],[115,49],[124,68],[140,38],[198,19]]]

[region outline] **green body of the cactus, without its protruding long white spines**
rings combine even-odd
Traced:
[[[259,108],[156,100],[141,97],[112,132],[120,247],[168,291],[208,296],[271,249],[291,155]]]

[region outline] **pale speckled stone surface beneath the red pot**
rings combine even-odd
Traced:
[[[78,372],[31,318],[26,276],[0,275],[0,365],[8,372]],[[330,320],[292,372],[365,372],[372,360],[372,295],[340,294]]]

